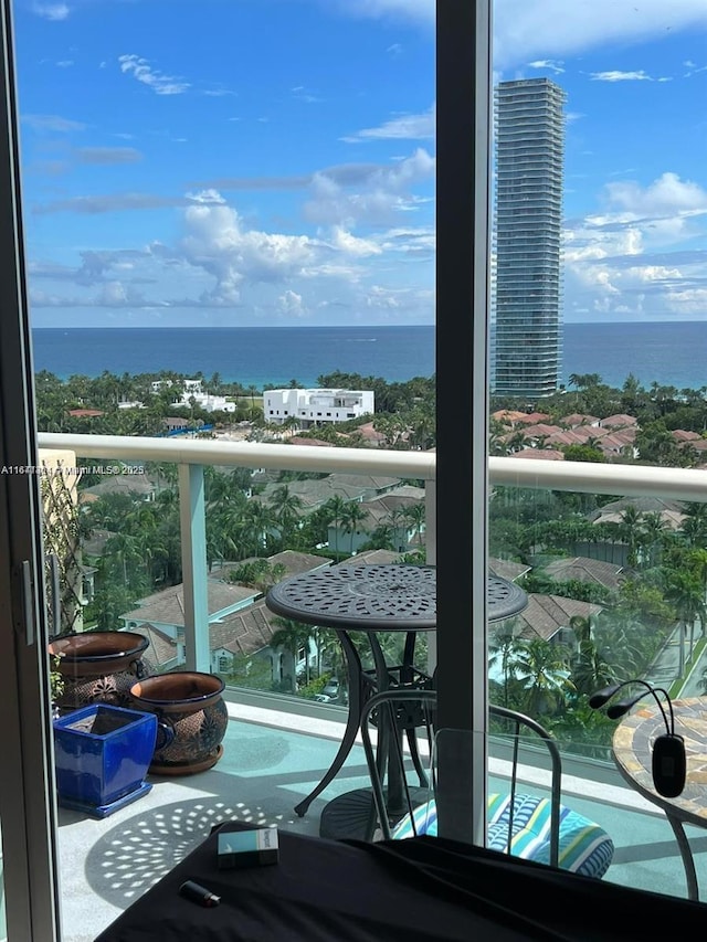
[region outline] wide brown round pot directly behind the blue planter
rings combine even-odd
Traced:
[[[149,645],[135,632],[82,632],[59,635],[49,644],[56,656],[64,690],[55,700],[62,713],[91,703],[130,706],[130,687],[155,669],[143,657]]]

